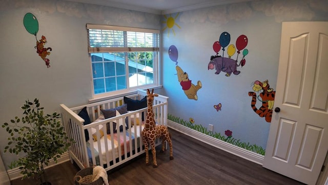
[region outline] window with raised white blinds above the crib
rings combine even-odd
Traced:
[[[94,96],[158,85],[159,30],[92,24],[87,29]]]

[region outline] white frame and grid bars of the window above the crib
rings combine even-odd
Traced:
[[[106,97],[114,97],[121,95],[132,94],[137,89],[147,89],[147,88],[158,88],[161,87],[159,84],[159,62],[160,62],[160,30],[156,29],[145,29],[145,28],[133,28],[133,27],[121,27],[121,26],[112,26],[112,25],[95,25],[95,24],[87,24],[87,36],[88,36],[88,56],[90,61],[90,69],[91,69],[91,90],[92,90],[92,99],[89,101],[95,101],[99,99],[104,99]],[[157,34],[156,40],[153,40],[157,47],[126,47],[126,43],[128,42],[124,39],[125,47],[91,47],[90,46],[90,38],[89,38],[89,29],[95,30],[115,30],[115,31],[131,31],[131,32],[142,32],[142,33],[155,33]],[[153,43],[154,44],[154,43]],[[114,90],[105,93],[95,94],[94,92],[94,84],[93,84],[93,69],[92,69],[92,59],[91,53],[115,53],[115,52],[125,52],[125,66],[126,66],[126,79],[127,79],[127,88],[121,90]],[[129,59],[128,52],[153,52],[153,83],[138,85],[134,87],[129,87]]]

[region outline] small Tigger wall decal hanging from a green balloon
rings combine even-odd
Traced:
[[[36,39],[36,46],[34,48],[36,49],[36,52],[38,55],[42,58],[43,61],[45,61],[47,68],[50,67],[50,60],[47,59],[47,55],[50,55],[50,52],[48,50],[52,50],[51,47],[45,48],[45,44],[47,43],[46,36],[42,35],[40,40],[37,40],[36,34],[39,30],[39,25],[36,17],[32,13],[26,13],[23,18],[24,27],[27,30],[27,32],[33,34]]]

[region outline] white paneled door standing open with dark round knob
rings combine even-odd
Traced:
[[[263,167],[315,184],[328,151],[328,22],[282,23]]]

